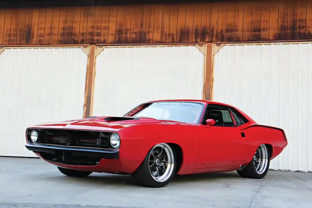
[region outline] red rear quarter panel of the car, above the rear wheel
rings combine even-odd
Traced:
[[[251,147],[249,161],[261,144],[271,145],[273,151],[271,152],[271,160],[278,156],[287,145],[287,140],[284,140],[282,131],[276,128],[256,124],[242,129],[241,132],[245,133]]]

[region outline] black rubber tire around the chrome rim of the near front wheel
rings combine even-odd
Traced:
[[[161,143],[161,144],[165,144],[165,143]],[[166,145],[168,145],[168,144],[166,144]],[[149,152],[146,154],[146,156],[145,156],[143,162],[140,164],[140,166],[131,174],[131,177],[133,178],[134,182],[137,185],[151,187],[151,188],[161,188],[161,187],[168,185],[168,183],[172,180],[172,178],[175,175],[176,168],[177,168],[177,156],[176,156],[176,150],[172,146],[168,145],[167,147],[172,150],[173,161],[174,161],[173,162],[173,169],[172,169],[170,177],[168,177],[167,180],[162,181],[162,182],[156,181],[152,177],[152,175],[149,171],[149,156],[153,150],[153,148],[151,148],[149,150]]]

